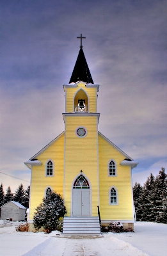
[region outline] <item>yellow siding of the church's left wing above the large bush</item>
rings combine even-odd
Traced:
[[[35,208],[42,202],[47,186],[63,196],[64,134],[37,158],[42,165],[33,166],[32,170],[30,220],[33,219]],[[54,162],[54,177],[45,177],[45,164],[49,159]]]

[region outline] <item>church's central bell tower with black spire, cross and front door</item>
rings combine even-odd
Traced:
[[[82,34],[79,38],[82,40]],[[63,88],[65,92],[63,198],[67,207],[67,216],[97,216],[97,205],[99,205],[98,123],[100,116],[97,113],[97,93],[99,84],[93,83],[84,57],[82,41],[70,82],[64,84]],[[79,179],[81,175],[83,178]],[[81,188],[77,187],[76,189],[74,186],[76,180],[80,180],[80,182],[87,180],[89,186],[83,187],[81,184]],[[82,196],[84,196],[83,201],[79,199]]]

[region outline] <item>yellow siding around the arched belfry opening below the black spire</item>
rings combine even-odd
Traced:
[[[86,88],[86,86],[83,83],[79,83],[76,88],[67,88],[67,92],[66,92],[66,112],[74,112],[74,106],[76,106],[75,104],[77,103],[77,99],[75,101],[74,104],[74,97],[77,93],[77,91],[79,91],[79,89],[83,89],[88,97],[89,97],[89,112],[91,113],[95,113],[97,112],[97,89],[96,88]],[[81,97],[84,98],[84,93],[81,93]],[[87,104],[87,98],[86,98],[86,102]]]

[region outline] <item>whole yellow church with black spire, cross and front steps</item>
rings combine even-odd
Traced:
[[[63,197],[63,233],[100,233],[120,221],[133,227],[133,159],[98,131],[99,84],[94,84],[81,46],[65,92],[65,131],[25,162],[31,169],[29,230],[35,209],[52,191]]]

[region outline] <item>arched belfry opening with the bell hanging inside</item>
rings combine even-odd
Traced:
[[[83,89],[77,91],[74,97],[74,112],[88,112],[88,95]]]

